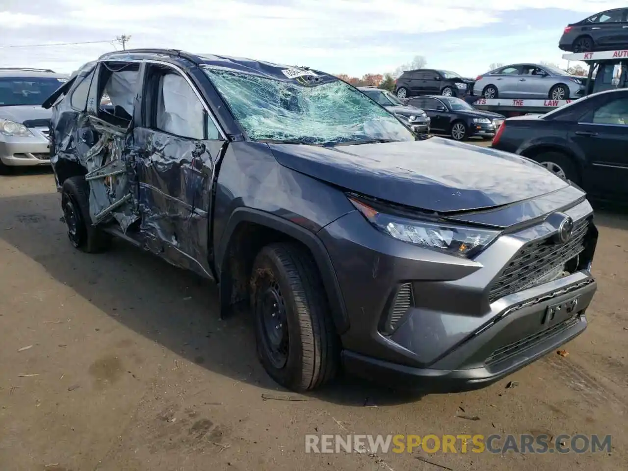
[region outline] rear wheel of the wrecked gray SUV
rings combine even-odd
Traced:
[[[89,185],[83,176],[71,176],[63,181],[61,205],[68,239],[73,246],[87,253],[104,252],[111,247],[112,237],[92,225]]]

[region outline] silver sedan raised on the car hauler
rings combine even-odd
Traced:
[[[487,99],[568,100],[585,94],[586,77],[541,64],[512,64],[475,78],[474,92]]]

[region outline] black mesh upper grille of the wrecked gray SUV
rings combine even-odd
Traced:
[[[588,219],[576,222],[571,239],[565,244],[555,242],[553,237],[546,237],[521,247],[490,288],[489,302],[544,283],[544,275],[560,269],[584,250],[588,225]]]

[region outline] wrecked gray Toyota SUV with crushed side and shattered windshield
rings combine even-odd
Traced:
[[[119,237],[250,306],[259,359],[313,389],[490,384],[582,333],[597,230],[533,161],[418,136],[308,68],[109,53],[47,100],[72,244]]]

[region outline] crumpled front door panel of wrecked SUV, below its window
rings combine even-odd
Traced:
[[[134,129],[140,229],[147,248],[170,263],[212,278],[208,194],[214,161],[202,141]]]

